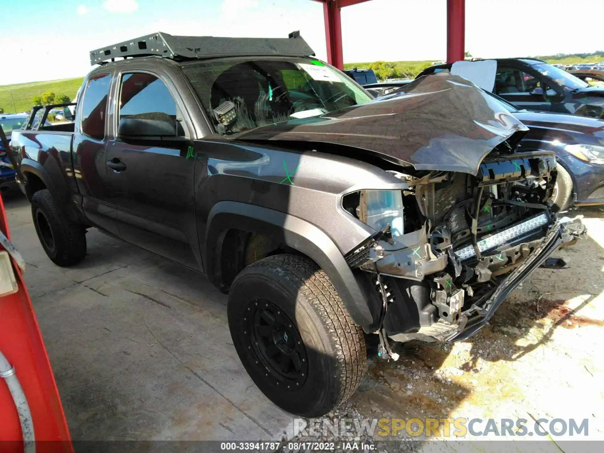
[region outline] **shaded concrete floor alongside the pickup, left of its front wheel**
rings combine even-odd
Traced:
[[[60,268],[27,200],[5,210],[73,440],[280,440],[291,429],[241,365],[226,296],[205,277],[94,229],[86,259]]]

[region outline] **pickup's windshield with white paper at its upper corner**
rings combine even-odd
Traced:
[[[182,69],[223,135],[371,100],[350,77],[319,60],[221,59],[183,63]]]

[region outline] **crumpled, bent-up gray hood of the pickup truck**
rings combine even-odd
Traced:
[[[473,83],[440,72],[366,104],[231,138],[345,145],[416,170],[476,175],[494,147],[510,137],[515,147],[527,130]]]

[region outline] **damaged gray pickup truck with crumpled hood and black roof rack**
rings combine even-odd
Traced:
[[[291,413],[354,393],[364,333],[393,359],[391,341],[467,338],[585,233],[551,210],[553,153],[519,152],[527,127],[460,77],[373,100],[295,33],[156,33],[91,62],[74,123],[47,106],[13,131],[40,243],[74,265],[95,227],[206,275]]]

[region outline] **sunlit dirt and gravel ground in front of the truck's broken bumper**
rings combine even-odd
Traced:
[[[588,419],[588,439],[604,440],[604,209],[568,213],[577,214],[583,216],[590,237],[554,255],[566,260],[567,268],[535,271],[501,305],[490,324],[467,341],[397,344],[401,355],[397,362],[370,355],[361,387],[328,418],[352,419],[353,425],[364,418],[524,418],[528,431],[536,419],[574,418],[577,424]],[[384,442],[376,434],[373,439],[330,434],[293,440],[332,441],[336,451],[347,450],[346,442],[351,448],[356,442],[359,449],[361,443],[373,443],[380,453],[588,450],[585,442],[565,442],[576,436],[491,435],[486,442],[455,442],[452,436],[448,442],[431,442],[442,437],[406,437],[407,442],[401,442],[402,435],[399,432],[397,442]],[[498,442],[502,439],[541,442]]]

